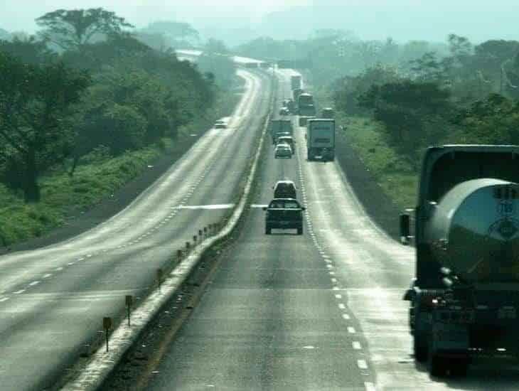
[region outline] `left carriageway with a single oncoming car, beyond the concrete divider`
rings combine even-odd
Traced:
[[[43,390],[146,295],[156,270],[229,213],[268,112],[270,80],[243,70],[228,129],[210,129],[122,212],[73,239],[0,258],[0,389]],[[202,130],[202,129],[200,129]]]

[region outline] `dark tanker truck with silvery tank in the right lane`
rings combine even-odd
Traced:
[[[519,356],[519,146],[427,149],[404,300],[414,359],[461,375],[477,355]],[[407,244],[410,215],[400,215]]]

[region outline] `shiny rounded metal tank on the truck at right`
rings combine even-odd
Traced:
[[[519,184],[461,182],[429,204],[433,258],[467,283],[519,282]]]

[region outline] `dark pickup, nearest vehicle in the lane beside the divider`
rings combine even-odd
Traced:
[[[303,235],[303,211],[294,198],[274,198],[270,201],[265,214],[265,234],[270,235],[272,229],[297,230],[297,235]]]

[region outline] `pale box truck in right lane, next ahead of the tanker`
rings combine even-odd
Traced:
[[[309,119],[306,125],[306,156],[309,161],[335,159],[335,119]]]

